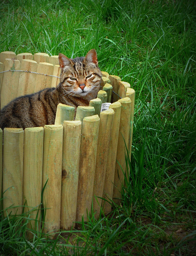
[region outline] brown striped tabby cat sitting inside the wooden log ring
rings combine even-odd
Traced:
[[[61,68],[57,88],[46,88],[34,94],[18,97],[2,108],[1,128],[39,127],[54,124],[59,103],[73,106],[88,106],[100,90],[102,73],[98,67],[96,50],[85,57],[69,59],[59,53]]]

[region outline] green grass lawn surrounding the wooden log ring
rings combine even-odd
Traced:
[[[0,22],[0,52],[75,57],[95,48],[100,68],[136,92],[122,205],[55,241],[41,232],[28,241],[26,214],[2,218],[0,255],[194,255],[194,1],[4,0]]]

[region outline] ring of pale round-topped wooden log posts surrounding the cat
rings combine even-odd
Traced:
[[[58,64],[58,56],[45,53],[1,52],[1,108],[18,96],[56,87]],[[32,219],[29,227],[40,230],[42,205],[43,232],[52,235],[120,204],[130,172],[125,143],[130,157],[135,91],[107,72],[102,72],[101,89],[89,106],[78,106],[75,120],[74,108],[59,104],[54,125],[0,129],[4,216],[22,214],[24,208]],[[100,112],[103,103],[108,109]]]

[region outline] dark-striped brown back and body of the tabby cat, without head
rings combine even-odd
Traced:
[[[1,110],[1,128],[39,127],[55,120],[56,102],[51,100],[55,88],[46,88],[12,100]]]

